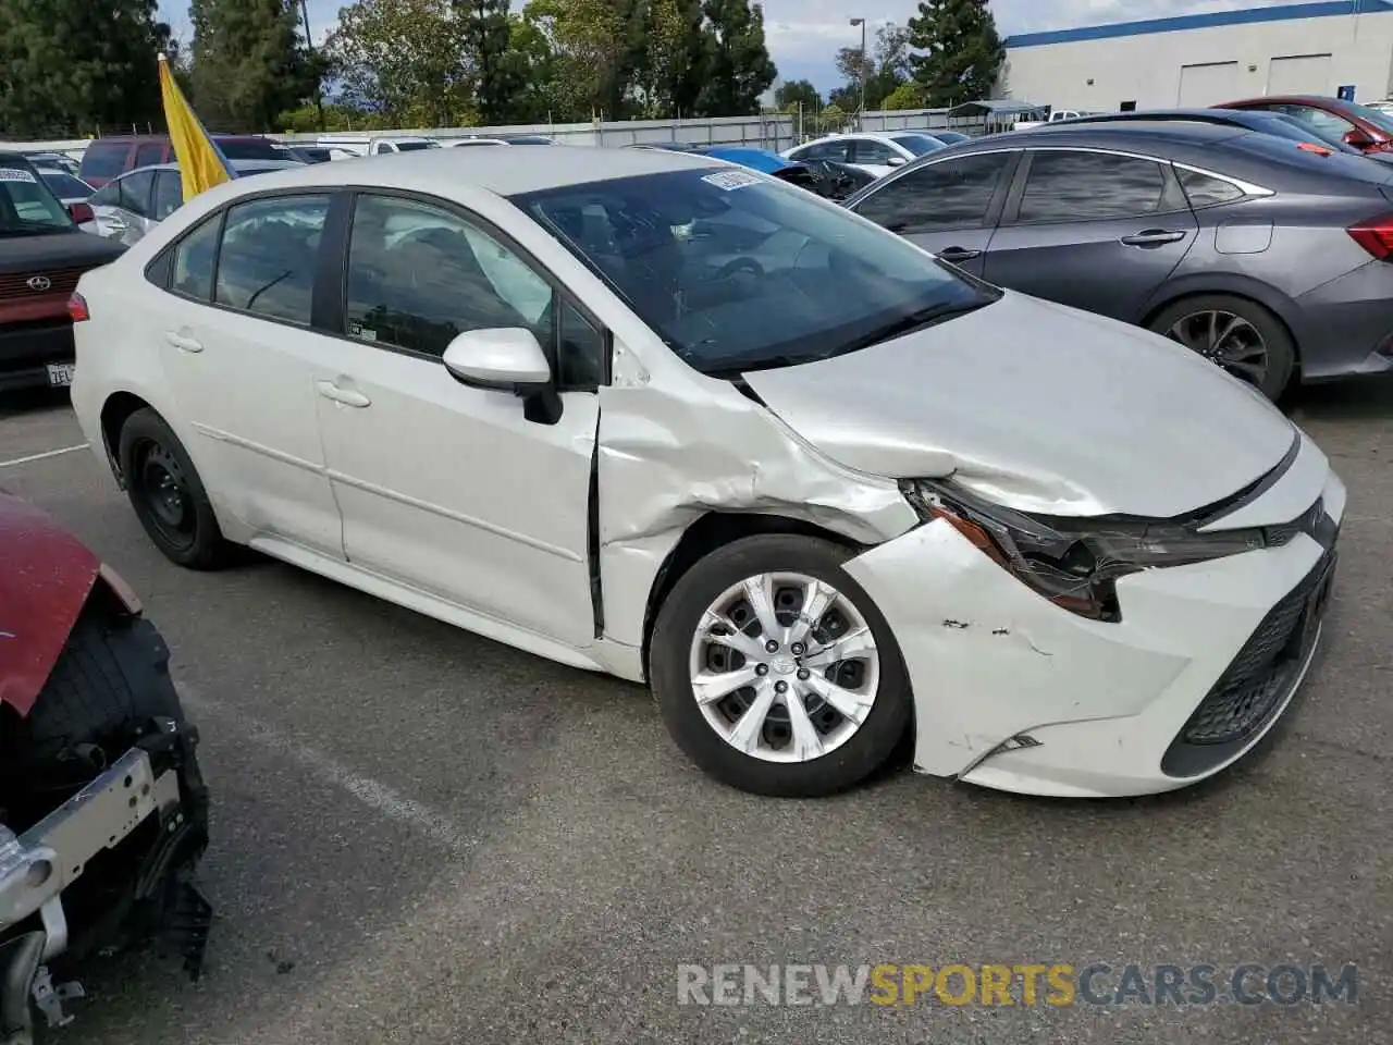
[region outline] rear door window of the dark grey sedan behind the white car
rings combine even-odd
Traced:
[[[1141,217],[1163,209],[1166,176],[1155,160],[1100,152],[1036,152],[1020,222]]]

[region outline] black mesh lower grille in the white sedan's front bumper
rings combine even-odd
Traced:
[[[1334,549],[1328,548],[1305,580],[1268,612],[1166,751],[1165,772],[1202,772],[1268,725],[1311,652],[1333,568]]]

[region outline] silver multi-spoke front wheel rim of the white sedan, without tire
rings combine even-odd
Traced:
[[[722,592],[696,627],[690,667],[708,725],[766,762],[836,751],[865,723],[880,684],[865,616],[800,573],[765,573]]]

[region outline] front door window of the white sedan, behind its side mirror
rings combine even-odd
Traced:
[[[354,212],[344,319],[351,337],[435,357],[465,330],[554,334],[552,286],[513,251],[449,210],[371,195]]]

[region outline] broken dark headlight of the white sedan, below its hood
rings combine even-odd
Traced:
[[[1092,620],[1121,620],[1119,577],[1268,546],[1256,528],[1199,534],[1174,522],[1046,518],[947,482],[907,479],[900,488],[921,518],[944,520],[1022,584]]]

